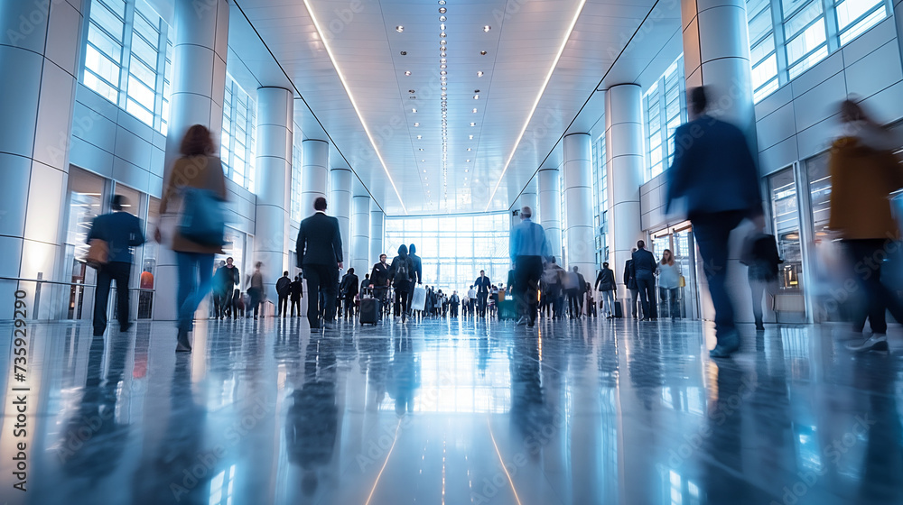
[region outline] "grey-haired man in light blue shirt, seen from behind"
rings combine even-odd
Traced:
[[[536,320],[539,280],[543,276],[545,258],[552,254],[545,230],[535,224],[533,209],[520,209],[520,224],[511,229],[509,250],[514,263],[514,299],[517,303],[518,325],[533,327]]]

